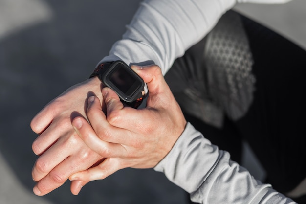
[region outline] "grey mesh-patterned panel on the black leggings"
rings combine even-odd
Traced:
[[[208,89],[231,119],[239,119],[253,100],[253,59],[240,16],[227,12],[210,32],[205,47]]]

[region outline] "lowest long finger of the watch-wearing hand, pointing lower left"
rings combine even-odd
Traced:
[[[63,185],[70,175],[90,168],[101,159],[101,156],[97,153],[84,148],[79,151],[78,155],[66,158],[53,168],[43,179],[36,183],[33,192],[36,195],[43,196]]]

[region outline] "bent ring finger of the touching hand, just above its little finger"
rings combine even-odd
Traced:
[[[72,125],[86,145],[101,157],[122,157],[126,155],[126,150],[121,144],[111,143],[100,139],[95,130],[92,129],[90,124],[84,118],[77,117],[73,119]]]

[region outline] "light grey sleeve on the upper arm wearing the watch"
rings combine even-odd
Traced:
[[[288,0],[144,0],[123,38],[101,62],[156,64],[165,74],[174,60],[201,40],[237,2]]]

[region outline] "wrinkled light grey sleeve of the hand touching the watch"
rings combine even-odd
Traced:
[[[256,181],[187,123],[170,153],[154,168],[191,194],[193,202],[205,204],[295,204]]]

